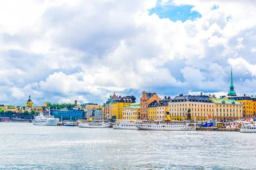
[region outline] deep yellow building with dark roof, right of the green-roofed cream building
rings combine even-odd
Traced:
[[[250,96],[227,96],[224,99],[233,99],[236,100],[237,102],[241,103],[243,105],[243,115],[242,117],[245,119],[246,117],[248,118],[253,118],[255,117],[255,98],[252,99]],[[254,100],[254,101],[253,101]]]

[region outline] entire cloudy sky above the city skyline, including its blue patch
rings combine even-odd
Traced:
[[[0,104],[256,95],[254,0],[0,0]]]

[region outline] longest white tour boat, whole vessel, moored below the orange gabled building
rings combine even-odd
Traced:
[[[138,130],[195,130],[195,126],[189,126],[186,121],[143,121],[137,123]]]

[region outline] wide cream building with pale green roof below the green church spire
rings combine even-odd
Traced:
[[[234,99],[210,98],[214,105],[214,119],[218,121],[239,119],[242,116],[242,104]]]

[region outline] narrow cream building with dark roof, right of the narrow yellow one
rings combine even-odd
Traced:
[[[166,113],[169,112],[168,102],[170,101],[170,96],[168,96],[168,98],[164,96],[164,98],[157,103],[157,119],[167,119]]]

